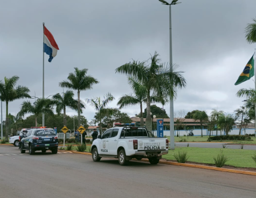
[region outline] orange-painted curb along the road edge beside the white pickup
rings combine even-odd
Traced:
[[[92,155],[92,153],[89,153],[89,152],[78,152],[78,151],[71,151],[71,152],[77,153],[77,154],[82,154],[82,155]],[[149,162],[148,159],[141,159],[140,161]],[[205,166],[205,165],[193,165],[193,164],[183,164],[183,163],[165,162],[165,161],[159,161],[159,164],[167,164],[167,165],[174,165],[174,166],[185,166],[185,167],[191,167],[191,168],[202,168],[202,169],[207,169],[207,170],[212,170],[212,171],[222,171],[222,172],[247,174],[247,175],[256,176],[256,172],[239,171],[239,170],[233,170],[233,169],[229,169],[229,168],[218,168],[218,167]]]

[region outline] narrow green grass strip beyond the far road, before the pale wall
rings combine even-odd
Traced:
[[[185,139],[186,142],[207,142],[209,136],[181,136],[181,137],[174,137],[175,142],[179,142],[180,140]],[[168,140],[170,141],[170,136],[167,136]],[[230,142],[234,144],[256,144],[256,137],[251,137],[252,141],[211,141],[211,142]]]

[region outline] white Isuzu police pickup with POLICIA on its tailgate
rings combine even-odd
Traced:
[[[118,158],[120,165],[129,160],[148,158],[151,164],[157,164],[162,155],[168,154],[169,141],[165,137],[153,137],[145,127],[134,124],[115,123],[92,143],[92,158],[99,162],[102,157]]]

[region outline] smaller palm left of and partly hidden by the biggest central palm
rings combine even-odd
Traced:
[[[146,86],[143,86],[138,80],[133,79],[132,77],[128,77],[128,83],[133,88],[135,96],[133,96],[132,93],[125,94],[119,99],[119,101],[117,102],[117,105],[120,105],[119,108],[121,109],[125,106],[140,104],[140,109],[141,109],[140,126],[144,127],[142,103],[147,102],[147,88]]]

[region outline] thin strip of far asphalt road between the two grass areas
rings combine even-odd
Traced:
[[[223,145],[225,143],[199,143],[199,142],[175,142],[175,146],[181,146],[181,147],[199,147],[199,148],[223,148]],[[241,145],[234,145],[234,144],[225,144],[226,148],[229,149],[241,149]],[[244,149],[246,150],[256,150],[256,145],[246,145],[244,144]]]

